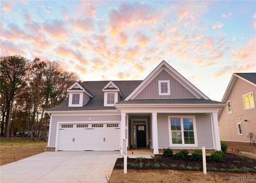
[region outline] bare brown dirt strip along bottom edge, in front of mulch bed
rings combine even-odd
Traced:
[[[215,179],[214,179],[215,177]],[[239,177],[248,177],[253,182],[256,175],[250,173],[213,173],[176,170],[113,170],[109,182],[234,182]],[[236,182],[236,181],[235,181]]]

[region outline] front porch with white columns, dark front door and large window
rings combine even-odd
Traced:
[[[152,109],[152,113],[143,113],[147,109],[129,109],[122,113],[120,123],[120,152],[123,154],[123,140],[127,139],[128,155],[159,154],[163,148],[220,150],[218,131],[218,113],[215,109],[202,107],[184,109],[180,107]],[[161,112],[159,111],[161,110]],[[150,111],[150,110],[148,110]],[[156,112],[155,112],[156,111]],[[173,119],[178,119],[180,129],[173,131]],[[192,129],[186,129],[186,122],[191,121]],[[175,137],[177,134],[178,137]],[[189,137],[188,134],[192,134]],[[174,142],[176,141],[176,142]],[[151,153],[152,152],[152,153]]]

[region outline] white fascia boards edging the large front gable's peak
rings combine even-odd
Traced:
[[[194,90],[195,92],[191,92],[191,90],[189,90],[189,92],[191,93],[197,93],[198,95],[200,95],[200,97],[202,97],[203,99],[209,99],[209,97],[207,97],[204,93],[202,93],[198,88],[196,88],[196,86],[194,86],[192,83],[190,83],[184,76],[182,76],[179,72],[177,72],[177,70],[175,70],[173,67],[171,67],[168,63],[166,63],[166,61],[162,61],[142,82],[141,84],[139,84],[139,86],[137,86],[135,88],[135,90],[133,90],[132,93],[130,93],[130,95],[128,95],[128,97],[126,97],[125,100],[129,100],[129,99],[133,99],[132,97],[134,97],[134,95],[138,95],[138,91],[140,90],[140,88],[142,88],[143,86],[145,86],[145,84],[148,83],[148,81],[152,81],[154,79],[153,76],[156,76],[157,72],[159,72],[159,70],[165,66],[166,68],[168,68],[169,70],[171,70],[175,76],[177,76],[181,81],[183,81],[185,84],[187,84],[189,86],[189,89],[191,88],[192,90]],[[152,78],[153,77],[153,78]],[[187,88],[186,86],[184,86],[185,88]],[[187,88],[188,89],[188,88]],[[195,95],[195,94],[194,94]]]

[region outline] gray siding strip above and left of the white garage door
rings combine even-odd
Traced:
[[[120,122],[121,115],[70,115],[70,116],[56,116],[52,115],[51,121],[51,134],[49,147],[55,147],[56,134],[57,134],[57,123],[61,122]]]

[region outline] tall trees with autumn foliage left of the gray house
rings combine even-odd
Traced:
[[[46,136],[49,115],[45,111],[67,97],[67,88],[77,80],[56,61],[2,56],[0,63],[0,127],[7,139],[17,132],[32,140]]]

